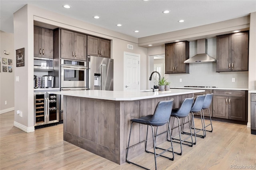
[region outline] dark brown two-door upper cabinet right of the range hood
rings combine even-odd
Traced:
[[[217,36],[216,72],[248,71],[248,32]]]

